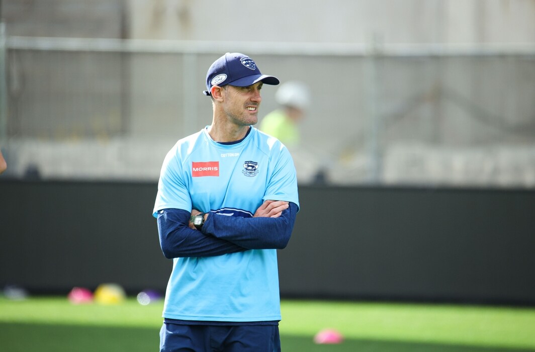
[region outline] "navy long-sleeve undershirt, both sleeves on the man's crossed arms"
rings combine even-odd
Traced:
[[[248,249],[282,249],[288,244],[298,207],[290,202],[278,218],[242,218],[210,213],[202,232],[188,227],[190,212],[158,212],[160,246],[166,258],[209,257]]]

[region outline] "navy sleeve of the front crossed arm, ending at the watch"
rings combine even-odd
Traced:
[[[298,207],[290,202],[278,218],[244,218],[211,213],[202,232],[247,249],[282,249],[292,235]]]

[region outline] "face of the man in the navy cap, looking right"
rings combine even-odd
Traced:
[[[238,126],[248,126],[258,122],[262,86],[262,82],[248,87],[225,86],[223,109],[232,123]]]

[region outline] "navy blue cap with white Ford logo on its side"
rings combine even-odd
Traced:
[[[208,69],[206,75],[206,88],[208,90],[204,90],[203,93],[211,95],[212,86],[247,87],[259,81],[273,86],[280,83],[277,77],[262,74],[253,59],[247,55],[239,52],[227,52]]]

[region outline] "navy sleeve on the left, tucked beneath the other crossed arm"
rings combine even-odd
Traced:
[[[189,228],[189,217],[190,212],[183,209],[158,211],[160,246],[166,258],[211,257],[247,250],[238,244]]]

